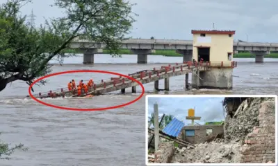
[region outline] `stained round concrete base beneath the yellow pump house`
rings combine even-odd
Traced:
[[[232,89],[233,68],[211,67],[208,71],[199,71],[199,75],[193,73],[192,86],[196,89]]]

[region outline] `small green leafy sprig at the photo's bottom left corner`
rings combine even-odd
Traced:
[[[15,145],[15,147],[9,147],[7,143],[3,143],[0,140],[0,160],[9,160],[10,158],[8,156],[13,154],[15,150],[26,151],[28,148],[24,147],[22,144]]]

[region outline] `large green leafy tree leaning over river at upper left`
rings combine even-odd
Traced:
[[[120,42],[136,15],[131,11],[136,4],[124,0],[56,0],[53,6],[65,10],[65,16],[34,28],[26,23],[26,15],[19,15],[30,2],[8,0],[0,7],[0,91],[10,82],[30,85],[35,77],[50,73],[51,59],[62,64],[63,58],[74,56],[65,54],[74,39],[103,42],[112,55],[119,55]]]

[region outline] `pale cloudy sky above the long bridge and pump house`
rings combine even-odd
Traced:
[[[6,0],[0,0],[1,3]],[[130,0],[139,16],[131,37],[192,39],[192,29],[236,30],[235,39],[248,42],[278,42],[277,0]],[[60,9],[49,5],[54,0],[33,0],[22,8],[26,15],[33,9],[36,24],[44,17],[59,17]]]

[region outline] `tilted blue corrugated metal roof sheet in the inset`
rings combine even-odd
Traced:
[[[184,127],[184,123],[174,118],[167,126],[162,130],[163,133],[168,136],[177,137]]]

